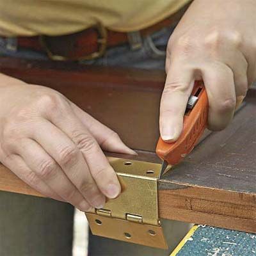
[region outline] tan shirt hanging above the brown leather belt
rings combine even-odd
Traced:
[[[0,35],[65,35],[97,22],[115,31],[146,28],[189,0],[0,0]]]

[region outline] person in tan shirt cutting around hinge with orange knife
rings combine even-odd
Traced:
[[[219,131],[230,123],[256,79],[256,3],[194,0],[177,26],[141,36],[141,31],[161,24],[190,2],[1,0],[0,54],[47,59],[45,52],[22,47],[19,36],[58,37],[88,31],[100,22],[109,35],[127,33],[130,39],[81,62],[165,68],[159,118],[164,141],[179,138],[188,97],[200,79],[209,99],[208,127]],[[1,255],[71,254],[71,205],[88,211],[120,194],[102,150],[135,154],[115,131],[60,93],[0,74],[0,161],[29,186],[55,199],[0,193]],[[92,255],[116,255],[113,248],[114,254],[97,251],[97,240],[92,244]],[[102,248],[108,247],[106,242]]]

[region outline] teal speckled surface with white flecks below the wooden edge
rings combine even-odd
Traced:
[[[199,225],[177,256],[253,256],[256,234]]]

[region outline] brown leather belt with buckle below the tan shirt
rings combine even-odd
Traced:
[[[17,47],[46,52],[51,60],[93,60],[104,55],[106,49],[129,43],[132,49],[141,47],[142,38],[163,28],[170,28],[180,20],[188,4],[167,19],[140,31],[122,33],[96,24],[83,31],[61,36],[19,36]]]

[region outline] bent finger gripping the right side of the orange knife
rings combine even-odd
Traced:
[[[236,89],[232,70],[223,63],[202,68],[209,100],[208,127],[212,131],[224,129],[232,120],[236,107]]]

